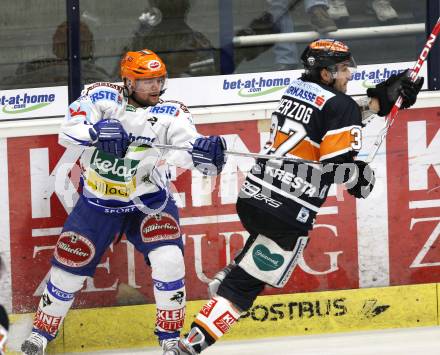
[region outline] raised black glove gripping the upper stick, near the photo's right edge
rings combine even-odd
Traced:
[[[377,113],[379,116],[388,115],[400,95],[403,99],[400,108],[404,109],[414,105],[423,86],[424,78],[420,77],[412,82],[408,75],[409,70],[407,69],[400,74],[391,75],[387,80],[377,84],[375,88],[367,90],[369,97],[379,99],[380,110]]]

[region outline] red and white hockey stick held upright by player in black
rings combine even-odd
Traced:
[[[426,61],[426,58],[428,58],[429,51],[433,47],[439,32],[440,32],[440,17],[437,20],[437,23],[435,24],[434,28],[432,29],[432,32],[429,35],[428,40],[426,41],[425,46],[422,49],[422,52],[419,55],[419,59],[417,59],[417,61],[414,64],[414,67],[412,68],[410,79],[413,82],[417,80],[417,77],[419,76],[419,71],[422,68],[423,63]],[[374,142],[374,146],[371,149],[370,153],[368,154],[367,159],[365,160],[367,163],[371,163],[373,159],[376,157],[379,148],[381,147],[383,141],[385,140],[388,134],[388,130],[390,129],[395,118],[397,117],[401,105],[402,105],[402,96],[399,96],[393,108],[391,109],[391,112],[385,117],[385,126],[380,130],[379,135],[377,136],[376,141]]]

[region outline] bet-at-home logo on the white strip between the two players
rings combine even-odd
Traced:
[[[238,79],[238,80],[223,80],[223,90],[238,90],[238,96],[241,97],[256,97],[264,96],[285,89],[290,84],[290,78],[264,78],[260,76],[258,79]]]

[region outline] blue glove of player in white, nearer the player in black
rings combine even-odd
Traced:
[[[194,166],[204,175],[220,174],[226,164],[226,141],[220,136],[197,138],[191,155]]]

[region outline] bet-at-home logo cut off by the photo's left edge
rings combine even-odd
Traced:
[[[46,107],[55,101],[55,94],[17,94],[13,96],[3,95],[0,97],[2,112],[17,114],[29,112]]]

